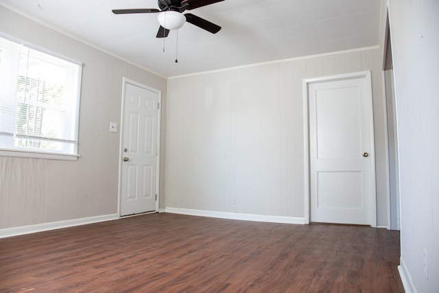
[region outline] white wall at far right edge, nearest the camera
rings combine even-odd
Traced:
[[[438,292],[439,1],[388,4],[399,136],[401,277],[408,290]]]

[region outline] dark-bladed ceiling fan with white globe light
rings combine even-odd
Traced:
[[[158,22],[160,27],[157,32],[157,38],[166,38],[169,30],[177,30],[187,21],[196,25],[203,30],[216,34],[221,30],[219,25],[206,21],[199,16],[191,13],[182,14],[185,10],[193,10],[202,6],[221,2],[224,0],[158,0],[158,8],[132,8],[132,9],[114,9],[114,14],[132,14],[132,13],[158,13]]]

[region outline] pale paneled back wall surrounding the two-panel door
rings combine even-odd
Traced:
[[[387,226],[382,64],[380,49],[367,49],[170,79],[166,207],[303,218],[302,80],[370,70]]]

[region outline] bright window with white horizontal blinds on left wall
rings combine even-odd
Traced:
[[[0,35],[0,154],[77,156],[81,73],[80,62]]]

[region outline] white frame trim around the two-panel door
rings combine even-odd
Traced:
[[[302,80],[302,95],[303,95],[303,143],[304,143],[304,196],[305,196],[305,224],[310,223],[311,218],[311,205],[310,205],[310,197],[311,197],[311,180],[310,177],[310,159],[309,159],[309,99],[308,99],[308,89],[309,84],[313,82],[323,82],[323,81],[335,81],[335,80],[346,80],[351,78],[365,78],[366,79],[366,95],[370,96],[370,99],[372,101],[372,77],[370,71],[359,71],[359,72],[353,72],[353,73],[344,73],[339,75],[329,75],[329,76],[322,76],[319,78],[306,78]],[[373,101],[372,101],[373,102]],[[370,129],[374,130],[374,121],[373,121],[373,106],[370,104],[370,113],[372,114],[372,117],[370,117]],[[375,170],[375,137],[374,132],[370,134],[370,143],[372,144],[372,147],[374,148],[373,151],[373,160],[372,160],[372,169]],[[373,177],[373,186],[372,190],[375,190],[375,196],[372,196],[370,198],[370,226],[376,227],[377,226],[377,195],[376,195],[376,177]]]

